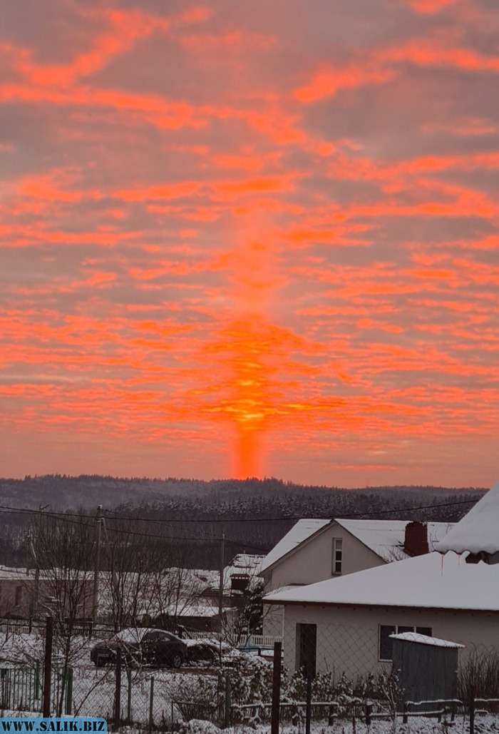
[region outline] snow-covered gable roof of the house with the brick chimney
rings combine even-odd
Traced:
[[[342,528],[356,537],[367,548],[376,553],[383,561],[400,561],[409,558],[404,551],[405,528],[409,520],[350,520],[335,517],[331,520],[307,518],[298,520],[285,536],[280,539],[272,551],[263,559],[261,571],[269,569],[278,561],[295,551],[299,545],[311,538],[330,523],[338,523]],[[426,523],[428,528],[428,545],[430,551],[441,540],[452,523]]]

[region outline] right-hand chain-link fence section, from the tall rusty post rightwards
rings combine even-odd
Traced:
[[[296,608],[282,643],[279,722],[360,730],[499,730],[499,653],[431,628],[330,622]],[[302,621],[305,620],[305,621]]]

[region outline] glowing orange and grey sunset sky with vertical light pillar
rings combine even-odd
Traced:
[[[0,474],[499,477],[497,0],[0,13]]]

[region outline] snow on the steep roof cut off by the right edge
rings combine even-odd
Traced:
[[[499,551],[499,482],[436,546],[439,553],[498,553]]]

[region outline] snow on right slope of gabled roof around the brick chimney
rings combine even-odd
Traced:
[[[409,558],[404,551],[405,528],[408,520],[336,520],[338,525],[348,530],[364,545],[371,548],[384,561],[401,561]],[[425,523],[428,532],[428,545],[434,545],[452,527],[451,523]]]

